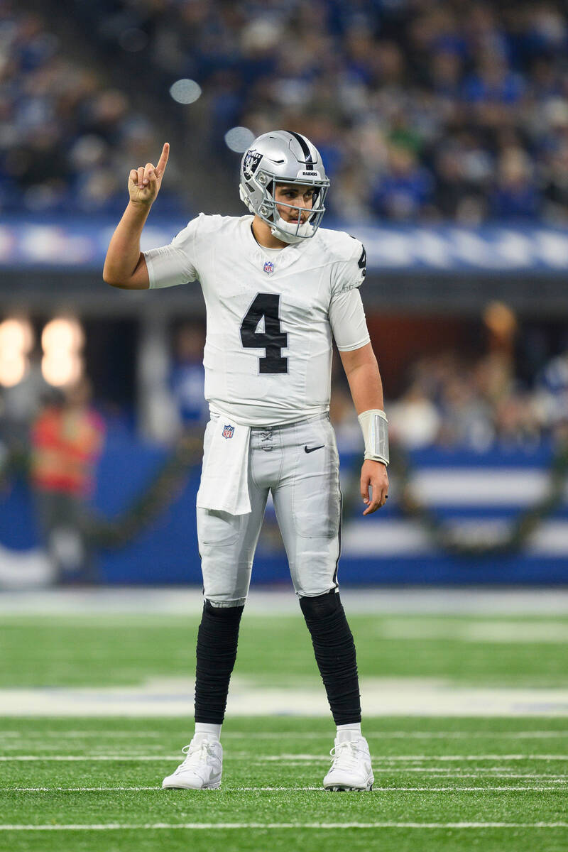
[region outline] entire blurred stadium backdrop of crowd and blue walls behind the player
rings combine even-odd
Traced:
[[[392,496],[362,518],[337,362],[341,584],[568,582],[567,49],[563,3],[0,0],[0,589],[200,584],[204,302],[101,270],[164,141],[143,249],[244,215],[276,128],[368,256]]]

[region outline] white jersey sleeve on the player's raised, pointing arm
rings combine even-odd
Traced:
[[[150,289],[175,287],[198,280],[196,237],[203,214],[192,219],[169,245],[144,252]]]

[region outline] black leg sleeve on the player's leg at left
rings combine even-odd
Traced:
[[[244,607],[212,607],[209,601],[204,602],[195,672],[196,722],[223,722],[243,610]]]

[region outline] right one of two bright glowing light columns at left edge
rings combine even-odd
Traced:
[[[56,388],[78,381],[83,374],[83,329],[70,317],[56,317],[42,333],[42,374]]]

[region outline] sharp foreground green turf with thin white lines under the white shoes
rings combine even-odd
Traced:
[[[175,766],[176,752],[187,739],[183,727],[176,719],[0,720],[3,756],[40,758],[3,762],[4,825],[147,826],[105,832],[2,831],[0,849],[134,852],[191,845],[198,850],[316,852],[324,848],[335,852],[346,844],[350,849],[384,852],[481,846],[491,852],[566,848],[565,827],[529,827],[566,821],[565,760],[552,757],[564,755],[568,746],[562,720],[367,719],[365,733],[376,786],[373,792],[359,794],[301,789],[321,785],[333,736],[326,720],[301,718],[227,722],[221,791],[163,792],[160,781]],[[41,759],[54,756],[87,759]],[[28,787],[48,789],[21,789]],[[71,789],[81,787],[111,789]],[[152,789],[112,789],[117,787]],[[260,827],[150,827],[187,823]],[[402,825],[278,828],[283,823]],[[526,827],[410,828],[409,823],[519,823]]]

